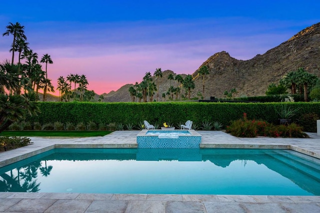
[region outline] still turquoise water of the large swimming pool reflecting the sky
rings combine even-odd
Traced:
[[[56,148],[0,168],[0,191],[320,195],[320,160],[284,149]]]

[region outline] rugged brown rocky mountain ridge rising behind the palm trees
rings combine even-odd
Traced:
[[[202,65],[207,65],[209,69],[204,96],[223,97],[223,91],[229,91],[231,88],[237,89],[237,96],[264,95],[270,83],[278,83],[285,73],[299,67],[320,77],[320,22],[251,59],[238,60],[221,51],[210,56],[199,67]],[[202,78],[197,70],[192,73],[195,82],[195,89],[191,93],[193,97],[198,91],[202,91]],[[170,73],[175,75],[173,71],[165,70],[162,78],[155,80],[155,76],[152,77],[153,81],[159,84],[159,100],[162,99],[161,94],[170,86],[170,81],[167,79]],[[182,76],[185,77],[184,74]],[[172,80],[171,83],[176,86],[175,81]],[[130,101],[128,92],[130,86],[133,84],[126,84],[116,91],[104,93],[103,101]]]

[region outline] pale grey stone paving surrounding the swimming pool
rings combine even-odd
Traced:
[[[136,147],[139,131],[103,137],[30,137],[32,145],[0,153],[0,167],[54,147]],[[200,147],[289,148],[320,158],[320,137],[237,138],[198,131]],[[88,194],[0,192],[0,212],[320,212],[320,196]]]

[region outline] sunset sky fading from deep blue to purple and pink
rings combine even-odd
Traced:
[[[59,76],[84,74],[98,94],[156,68],[192,74],[220,51],[247,60],[320,22],[319,0],[1,0],[0,7],[1,35],[9,22],[23,25],[33,52],[51,56],[55,88]],[[0,62],[11,60],[12,40],[0,36]]]

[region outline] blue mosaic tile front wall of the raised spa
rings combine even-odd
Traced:
[[[138,148],[199,148],[201,136],[179,136],[179,138],[158,138],[158,136],[136,136]]]

